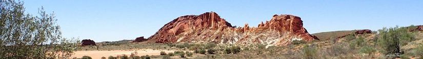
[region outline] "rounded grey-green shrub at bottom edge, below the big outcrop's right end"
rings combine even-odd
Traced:
[[[309,45],[305,45],[301,50],[303,57],[307,59],[315,59],[317,57],[317,49],[310,47]]]

